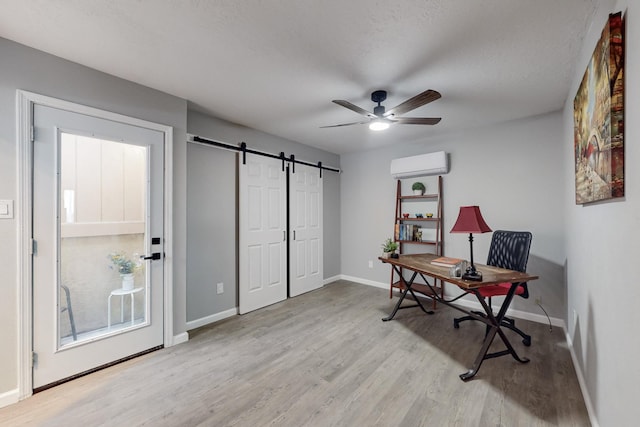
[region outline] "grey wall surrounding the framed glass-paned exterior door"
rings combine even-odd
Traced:
[[[176,98],[0,38],[0,199],[17,200],[16,90],[174,128],[174,333],[186,330],[186,117]],[[16,215],[18,212],[15,212]],[[17,396],[17,220],[0,220],[0,406]]]

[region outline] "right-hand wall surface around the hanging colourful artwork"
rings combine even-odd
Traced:
[[[575,204],[573,97],[609,13],[626,12],[625,197]],[[585,37],[563,114],[568,334],[595,417],[602,426],[637,425],[640,381],[640,4],[600,1]],[[574,321],[573,313],[577,320]]]

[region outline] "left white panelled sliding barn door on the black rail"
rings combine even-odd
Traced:
[[[239,311],[287,298],[286,174],[282,161],[247,154],[239,170]]]

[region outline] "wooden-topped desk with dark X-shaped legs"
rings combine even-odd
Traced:
[[[414,293],[414,290],[416,290],[417,292],[424,293],[429,298],[433,298],[442,304],[448,305],[450,307],[455,308],[456,310],[462,311],[463,313],[469,316],[472,316],[474,319],[477,319],[489,326],[484,342],[482,343],[482,347],[480,348],[480,351],[478,352],[478,355],[476,356],[476,359],[473,362],[473,366],[467,372],[460,374],[460,378],[463,381],[466,381],[472,378],[475,374],[477,374],[478,371],[480,370],[480,365],[482,365],[482,362],[485,359],[491,359],[493,357],[505,356],[510,354],[518,362],[527,363],[529,359],[521,358],[520,356],[518,356],[513,346],[507,339],[506,335],[502,331],[502,328],[500,327],[500,323],[502,322],[502,319],[504,318],[504,315],[506,314],[507,309],[511,304],[511,300],[515,295],[515,291],[516,291],[516,288],[518,287],[518,283],[535,280],[538,278],[538,276],[534,276],[528,273],[521,273],[519,271],[506,270],[504,268],[475,264],[476,269],[482,273],[482,282],[462,280],[459,277],[449,277],[449,267],[439,267],[431,264],[431,261],[437,257],[438,255],[433,255],[433,254],[417,254],[417,255],[400,255],[399,258],[378,258],[383,263],[391,264],[391,267],[400,276],[400,282],[404,287],[404,291],[402,292],[402,295],[398,299],[398,302],[396,303],[396,306],[394,307],[393,311],[389,316],[383,318],[382,320],[385,322],[389,321],[393,319],[393,317],[396,315],[398,310],[402,308],[409,308],[409,307],[420,307],[422,311],[424,311],[425,313],[433,314],[433,311],[426,310],[422,305],[422,303],[420,303],[420,300],[416,297]],[[409,280],[405,280],[404,277],[402,276],[402,273],[401,273],[402,269],[406,269],[411,272],[411,278]],[[425,281],[426,285],[422,285],[418,283],[414,284],[413,282],[417,276],[420,276]],[[433,279],[434,282],[435,282],[435,279],[439,279],[439,280],[444,280],[445,282],[453,283],[454,285],[458,286],[460,289],[464,290],[465,293],[458,295],[453,299],[447,300],[444,297],[441,297],[440,295],[438,295],[437,292],[435,292],[434,286],[429,284],[429,281],[425,276],[430,277],[431,279]],[[504,302],[502,303],[502,306],[500,307],[498,314],[494,315],[493,311],[491,310],[491,307],[489,307],[485,299],[480,295],[480,293],[478,292],[478,289],[484,286],[495,285],[498,283],[511,283],[511,288],[509,289],[508,294],[505,296]],[[472,313],[470,310],[465,310],[461,307],[458,307],[457,305],[452,304],[453,302],[467,295],[467,292],[476,296],[476,298],[480,302],[480,305],[482,305],[482,308],[486,313],[486,317],[479,316],[475,313]],[[411,295],[413,296],[417,304],[401,307],[402,301],[407,296],[407,293],[411,293]],[[491,346],[491,343],[493,342],[493,339],[495,338],[496,334],[500,336],[500,339],[502,340],[504,345],[507,347],[507,349],[503,351],[498,351],[495,353],[488,353],[489,347]]]

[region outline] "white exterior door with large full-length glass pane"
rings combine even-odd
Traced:
[[[37,104],[33,123],[39,388],[163,344],[164,134]]]

